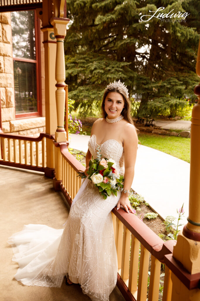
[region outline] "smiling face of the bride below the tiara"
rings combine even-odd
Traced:
[[[118,92],[109,92],[104,104],[108,118],[115,119],[121,115],[121,111],[124,108],[124,98]]]

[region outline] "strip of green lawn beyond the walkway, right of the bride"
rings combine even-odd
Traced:
[[[190,163],[190,138],[139,134],[138,139],[142,145],[155,148]]]

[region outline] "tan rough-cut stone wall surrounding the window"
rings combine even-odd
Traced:
[[[43,33],[41,39],[41,89],[42,116],[45,116],[44,93],[44,47]],[[19,135],[36,135],[45,131],[45,117],[15,119],[14,72],[12,54],[12,31],[10,12],[0,13],[0,98],[1,122],[4,133]]]

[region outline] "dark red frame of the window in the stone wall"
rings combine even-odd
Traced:
[[[31,117],[40,117],[42,116],[42,89],[41,89],[41,51],[40,51],[40,19],[37,16],[35,9],[27,9],[34,11],[34,26],[35,26],[35,60],[27,59],[22,57],[13,57],[14,61],[21,61],[26,63],[36,64],[36,90],[37,90],[37,112],[30,113],[16,113],[15,119],[31,118]],[[12,23],[11,23],[12,30]],[[13,75],[14,76],[14,75]]]

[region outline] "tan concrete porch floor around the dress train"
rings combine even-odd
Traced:
[[[82,293],[78,284],[61,288],[28,287],[13,276],[18,265],[12,261],[12,248],[7,239],[21,231],[24,224],[44,224],[62,228],[70,207],[61,192],[55,192],[52,179],[43,173],[0,166],[0,252],[1,301],[86,301],[91,300]],[[124,301],[118,287],[110,295],[110,301]]]

